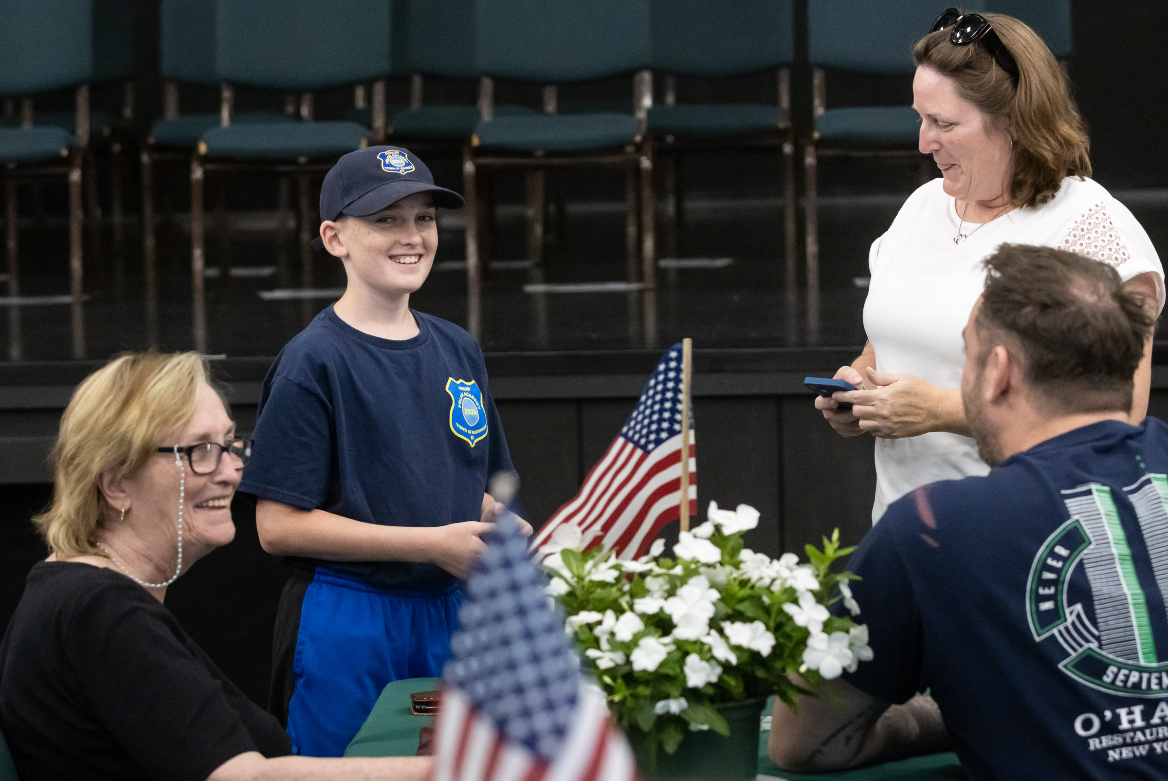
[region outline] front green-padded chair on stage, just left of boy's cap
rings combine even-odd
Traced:
[[[203,178],[266,171],[299,185],[301,285],[312,288],[315,222],[313,177],[364,146],[369,131],[354,122],[315,122],[312,90],[374,82],[374,140],[384,137],[384,77],[390,70],[388,0],[286,0],[279,13],[264,0],[216,0],[215,70],[222,81],[220,126],[203,133],[190,164],[192,284],[195,344],[207,344],[203,284]],[[300,122],[234,123],[235,84],[299,92]],[[221,276],[229,276],[224,269]]]

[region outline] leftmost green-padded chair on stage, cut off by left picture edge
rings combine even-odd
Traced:
[[[90,0],[7,0],[0,6],[0,96],[20,98],[20,126],[0,127],[0,179],[6,193],[9,306],[21,303],[16,187],[47,177],[69,182],[69,302],[72,354],[84,358],[82,322],[82,168],[89,145],[89,78],[92,75]],[[76,127],[37,124],[33,94],[76,87]],[[15,312],[16,310],[12,310]],[[19,360],[20,340],[9,358]]]

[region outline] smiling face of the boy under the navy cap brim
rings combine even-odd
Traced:
[[[426,281],[438,250],[433,198],[415,193],[374,214],[326,220],[320,237],[345,263],[349,286],[382,298],[409,295]]]

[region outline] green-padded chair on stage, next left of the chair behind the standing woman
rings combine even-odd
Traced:
[[[739,148],[781,151],[787,286],[795,284],[794,139],[791,133],[791,0],[652,0],[655,71],[665,75],[665,101],[648,111],[661,158],[669,230],[665,254],[676,257],[682,216],[679,168],[683,153]],[[772,103],[679,103],[677,76],[726,78],[762,70],[776,76]]]

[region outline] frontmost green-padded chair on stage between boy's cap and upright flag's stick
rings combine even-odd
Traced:
[[[464,152],[466,271],[472,302],[484,272],[479,254],[480,170],[527,170],[528,257],[543,258],[544,174],[564,166],[616,166],[626,174],[630,289],[656,284],[653,226],[653,102],[648,0],[472,0],[472,42],[481,74],[481,118]],[[631,75],[627,113],[557,111],[557,84]],[[495,78],[542,84],[543,113],[496,116]],[[639,212],[639,221],[638,221]],[[639,228],[639,230],[638,230]],[[638,270],[638,265],[640,267]],[[472,324],[473,325],[473,324]]]

